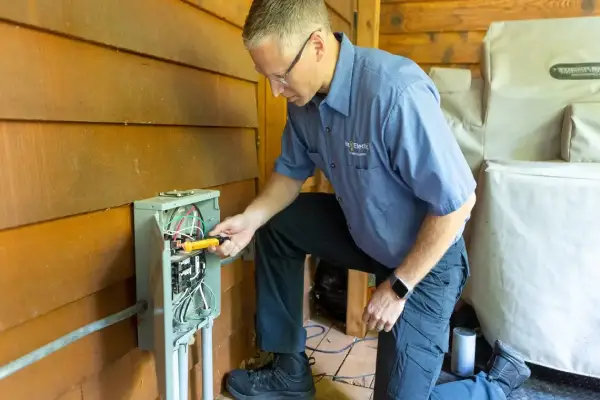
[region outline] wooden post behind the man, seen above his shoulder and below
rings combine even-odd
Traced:
[[[379,46],[380,0],[357,0],[358,18],[356,45]],[[346,334],[364,337],[367,326],[362,315],[368,301],[368,274],[350,270],[348,272],[348,298],[346,300]]]

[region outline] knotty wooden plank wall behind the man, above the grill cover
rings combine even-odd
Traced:
[[[381,0],[380,48],[431,66],[480,75],[481,41],[494,21],[600,15],[594,0]]]

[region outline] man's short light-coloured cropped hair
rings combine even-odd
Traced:
[[[253,0],[242,36],[249,49],[273,38],[285,52],[319,28],[323,33],[331,31],[324,0]]]

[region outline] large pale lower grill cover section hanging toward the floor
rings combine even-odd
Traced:
[[[600,164],[486,161],[465,299],[483,334],[600,378]]]

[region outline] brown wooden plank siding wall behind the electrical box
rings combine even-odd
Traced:
[[[135,303],[132,201],[217,188],[224,218],[255,197],[267,118],[249,5],[0,2],[0,365]],[[222,270],[216,393],[254,354],[253,271]],[[156,399],[154,363],[132,318],[0,380],[0,398]]]

